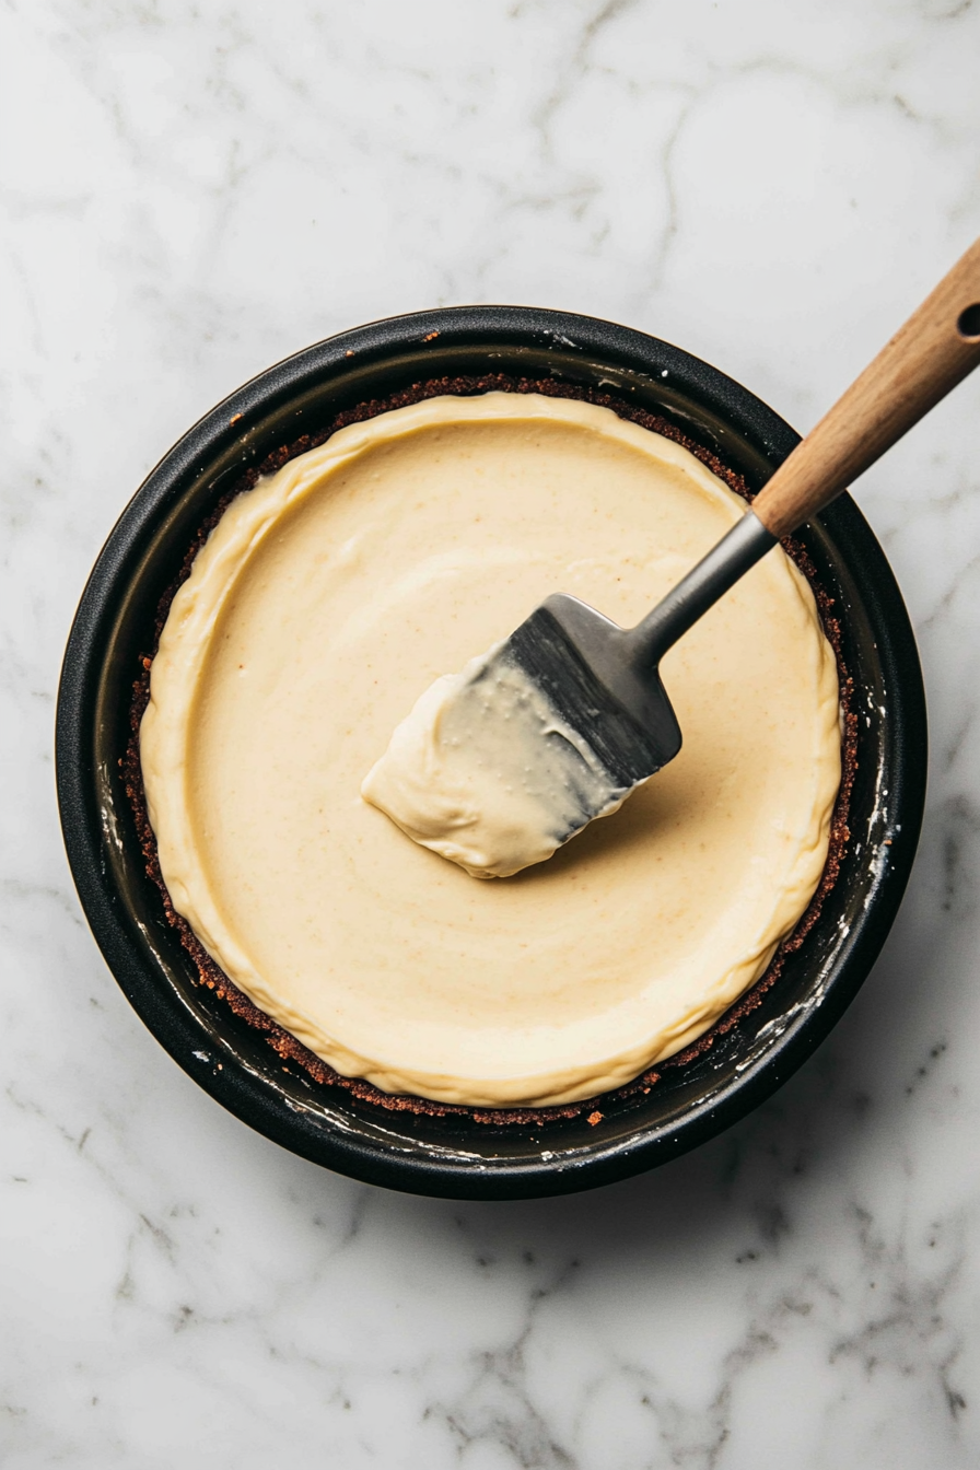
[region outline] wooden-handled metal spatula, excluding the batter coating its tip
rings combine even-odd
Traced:
[[[607,791],[583,784],[567,836],[608,810],[610,791],[629,792],[680,750],[680,726],[660,679],[667,650],[780,537],[830,504],[977,363],[980,240],[796,445],[752,509],[636,628],[620,628],[557,594],[498,645],[485,676],[492,678],[494,664],[522,670],[608,773]]]

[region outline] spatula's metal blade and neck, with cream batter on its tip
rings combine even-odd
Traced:
[[[746,512],[624,629],[555,594],[416,703],[361,795],[476,878],[541,863],[680,750],[660,660],[776,544]]]

